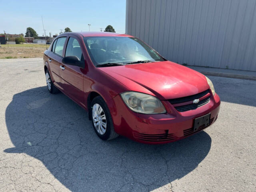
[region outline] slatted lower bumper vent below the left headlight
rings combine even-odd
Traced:
[[[137,132],[134,132],[134,137],[139,140],[150,142],[171,141],[176,139],[176,136],[174,136],[174,134],[143,134]]]

